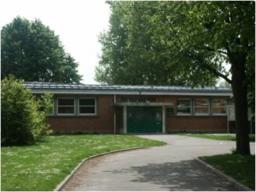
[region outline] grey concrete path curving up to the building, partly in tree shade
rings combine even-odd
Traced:
[[[168,145],[101,156],[86,162],[63,191],[236,191],[194,158],[230,153],[234,141],[179,135],[139,135]],[[255,143],[251,144],[255,151]]]

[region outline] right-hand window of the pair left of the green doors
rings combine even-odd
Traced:
[[[96,114],[96,99],[79,99],[79,114]]]

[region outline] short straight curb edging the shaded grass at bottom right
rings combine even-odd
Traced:
[[[238,182],[234,178],[232,178],[232,177],[224,174],[220,170],[214,168],[213,166],[211,166],[207,162],[204,162],[203,160],[201,160],[199,158],[195,158],[195,160],[197,160],[197,162],[199,162],[200,164],[203,164],[208,169],[212,170],[212,172],[214,172],[215,174],[218,174],[218,175],[222,176],[223,178],[225,178],[226,180],[230,181],[234,185],[234,187],[236,187],[236,189],[238,189],[240,191],[253,191],[252,189],[250,189],[249,187],[247,187],[247,186],[243,185],[242,183]]]

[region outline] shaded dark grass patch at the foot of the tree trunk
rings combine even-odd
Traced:
[[[200,158],[228,176],[240,181],[240,183],[255,190],[255,155],[242,156],[226,154],[201,156]]]

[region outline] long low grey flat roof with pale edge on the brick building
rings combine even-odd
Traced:
[[[231,96],[226,87],[187,87],[167,85],[86,85],[51,82],[25,82],[32,93],[117,94],[117,95],[222,95]]]

